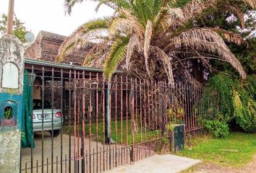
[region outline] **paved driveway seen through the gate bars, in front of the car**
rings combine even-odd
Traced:
[[[71,136],[71,143],[69,145],[69,136],[68,135],[62,135],[62,146],[61,146],[61,135],[54,138],[54,141],[52,143],[50,133],[45,132],[43,135],[42,140],[42,133],[35,133],[35,148],[24,148],[21,152],[21,164],[22,169],[30,168],[31,163],[33,163],[33,172],[41,172],[41,165],[44,165],[44,172],[51,172],[51,167],[54,169],[55,172],[60,172],[61,168],[61,150],[62,150],[62,169],[64,172],[69,170],[69,164],[72,170],[74,170],[74,137]],[[81,148],[82,146],[82,140],[81,138],[76,138],[76,145],[77,148]],[[79,144],[78,144],[79,143]],[[89,145],[90,144],[90,145]],[[53,147],[52,147],[53,145]],[[79,146],[79,147],[78,147]],[[115,146],[111,145],[109,148],[108,145],[105,145],[105,152],[103,154],[103,144],[102,143],[96,143],[95,141],[89,141],[88,138],[85,138],[85,151],[88,151],[89,155],[89,146],[90,146],[90,152],[93,154],[93,150],[95,152],[94,155],[88,156],[87,161],[88,165],[91,162],[91,169],[109,169],[109,167],[114,167],[114,164],[116,164],[116,161],[119,163],[117,164],[125,164],[129,163],[129,148],[125,146]],[[98,154],[96,154],[96,148],[98,146]],[[62,147],[62,149],[61,149]],[[117,147],[117,150],[115,150]],[[52,155],[52,148],[53,148],[53,155]],[[69,162],[69,148],[71,151],[71,161]],[[101,153],[100,153],[101,148]],[[109,149],[111,150],[111,154],[109,152]],[[115,153],[117,151],[117,153]],[[33,157],[31,157],[33,154]],[[116,154],[118,154],[116,156]],[[65,157],[67,156],[67,161],[65,161]],[[128,158],[128,159],[127,159]],[[53,161],[51,161],[53,159]],[[77,167],[80,167],[79,169],[82,169],[82,162],[80,162]],[[32,161],[33,160],[33,161]],[[43,160],[43,164],[42,164]],[[109,163],[109,160],[111,160],[111,163]],[[54,162],[54,164],[51,164]],[[105,164],[103,164],[103,162]],[[47,164],[48,163],[48,164]],[[110,165],[110,166],[109,166]],[[36,169],[38,167],[38,169]],[[105,167],[105,168],[103,168]],[[89,169],[89,166],[88,166]],[[25,172],[25,171],[23,171]],[[28,170],[27,172],[30,172]],[[93,172],[93,170],[92,170]]]

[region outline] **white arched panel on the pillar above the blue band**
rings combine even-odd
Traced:
[[[19,88],[19,68],[14,63],[5,63],[2,75],[1,85],[3,88]]]

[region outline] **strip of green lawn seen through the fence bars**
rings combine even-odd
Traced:
[[[123,127],[123,135],[121,136],[121,126]],[[89,123],[86,123],[85,125],[85,134],[88,137],[89,136],[89,129],[90,125]],[[117,133],[116,133],[117,130]],[[74,133],[74,125],[65,125],[63,128],[64,133],[68,134],[69,131],[70,133]],[[80,125],[80,134],[82,133],[82,125]],[[91,134],[92,138],[96,140],[96,134],[97,134],[97,128],[96,128],[96,123],[91,124]],[[98,141],[103,142],[103,122],[98,123]],[[147,131],[145,128],[137,128],[135,132],[135,141],[136,143],[140,143],[143,141],[149,141],[152,138],[156,138],[159,134],[159,130],[151,130]],[[118,144],[124,143],[127,144],[127,139],[128,139],[128,144],[132,144],[132,127],[131,127],[131,122],[128,120],[123,120],[123,123],[121,124],[121,120],[118,121],[113,121],[111,122],[111,138]]]

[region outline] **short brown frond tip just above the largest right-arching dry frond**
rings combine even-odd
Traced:
[[[214,28],[214,27],[207,27],[205,28],[207,30],[212,30],[214,32],[220,32],[221,35],[225,38],[226,41],[229,43],[235,43],[236,45],[245,45],[247,48],[249,48],[249,44],[247,43],[246,40],[241,35],[238,35],[234,32],[222,30],[220,28]]]

